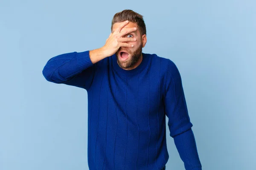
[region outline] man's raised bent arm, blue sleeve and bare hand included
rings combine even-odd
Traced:
[[[49,82],[73,85],[88,90],[93,82],[94,73],[100,60],[115,54],[120,47],[133,47],[128,42],[135,42],[136,39],[123,36],[137,28],[128,28],[123,31],[122,28],[127,24],[128,21],[122,22],[109,35],[102,48],[80,53],[61,54],[49,59],[42,71],[45,79]]]

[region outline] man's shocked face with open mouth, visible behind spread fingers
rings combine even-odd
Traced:
[[[115,31],[120,26],[120,24],[121,23],[114,23],[112,32]],[[145,39],[145,35],[143,35],[143,37],[141,36],[136,23],[129,22],[126,26],[122,28],[121,31],[125,31],[125,29],[133,27],[136,27],[137,30],[126,34],[123,37],[136,38],[135,42],[126,42],[128,44],[133,44],[134,47],[120,47],[119,50],[116,51],[117,63],[121,68],[124,68],[125,70],[134,69],[138,66],[138,64],[140,64],[138,62],[142,61],[142,48],[145,46],[145,44],[143,45],[143,37]],[[123,58],[125,54],[121,51],[125,51],[125,53],[128,53],[128,57],[126,59]],[[123,57],[121,57],[121,55]]]

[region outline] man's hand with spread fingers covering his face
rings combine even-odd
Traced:
[[[107,57],[115,54],[120,47],[133,47],[133,45],[128,44],[127,42],[135,42],[136,38],[126,38],[123,36],[125,34],[129,34],[135,31],[137,28],[136,27],[127,28],[121,31],[122,28],[126,26],[128,23],[129,22],[127,21],[122,22],[122,24],[109,35],[105,45],[102,47]]]

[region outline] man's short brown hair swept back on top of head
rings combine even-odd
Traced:
[[[132,11],[131,9],[125,9],[121,12],[116,13],[113,16],[112,23],[111,23],[111,32],[114,23],[121,23],[128,20],[129,22],[136,23],[139,27],[139,31],[141,35],[146,34],[146,26],[143,20],[143,16],[138,14],[137,12]]]

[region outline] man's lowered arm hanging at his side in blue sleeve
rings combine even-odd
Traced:
[[[186,170],[201,170],[195,137],[191,127],[180,73],[169,60],[165,74],[165,113],[168,117],[170,136],[174,139]]]

